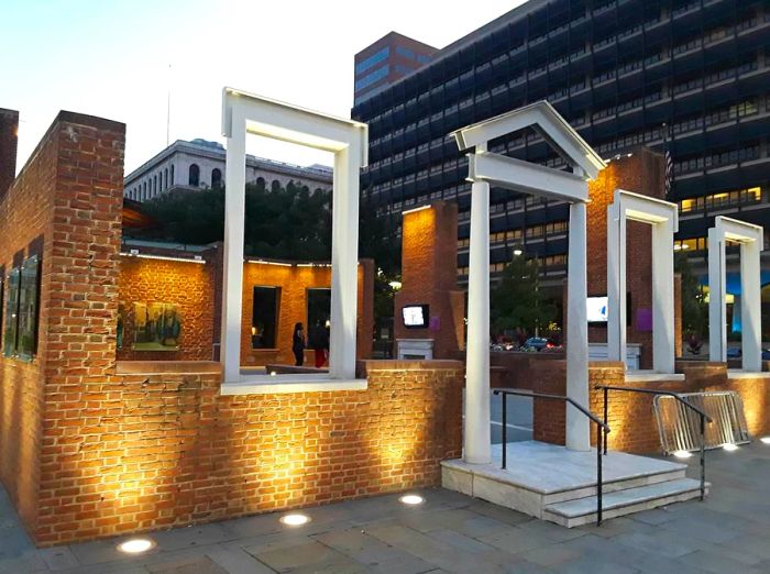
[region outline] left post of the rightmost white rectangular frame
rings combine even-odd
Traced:
[[[725,292],[727,290],[725,249],[721,230],[708,230],[708,360],[727,361],[727,323],[725,320]]]

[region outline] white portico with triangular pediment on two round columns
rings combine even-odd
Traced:
[[[490,141],[526,128],[537,130],[566,161],[572,173],[487,151]],[[469,155],[471,240],[468,285],[468,353],[464,460],[488,464],[490,446],[490,186],[570,202],[568,279],[566,395],[588,404],[586,321],[586,209],[588,180],[604,161],[546,101],[492,118],[453,133]],[[566,409],[566,445],[590,449],[588,420]]]

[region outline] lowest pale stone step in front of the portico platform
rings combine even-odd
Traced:
[[[708,492],[706,483],[706,492]],[[692,478],[676,478],[623,490],[605,493],[602,497],[603,519],[616,518],[649,510],[672,503],[701,496],[701,483]],[[596,521],[596,496],[586,496],[554,503],[543,507],[542,519],[566,528]]]

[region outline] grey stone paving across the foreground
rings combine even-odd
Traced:
[[[690,461],[697,476],[697,457]],[[404,507],[397,496],[153,532],[128,558],[117,540],[37,550],[0,497],[0,573],[625,573],[770,572],[770,445],[707,454],[712,495],[568,530],[443,489]]]

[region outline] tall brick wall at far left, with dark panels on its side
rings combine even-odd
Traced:
[[[32,532],[65,501],[67,429],[97,413],[77,388],[114,366],[124,133],[61,112],[0,199],[0,265],[42,256],[37,355],[0,357],[0,477]]]

